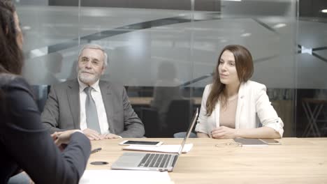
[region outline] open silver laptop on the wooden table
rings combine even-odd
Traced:
[[[136,153],[127,152],[112,163],[111,169],[129,169],[145,171],[173,171],[178,157],[182,154],[184,144],[189,138],[198,117],[198,108],[189,124],[189,129],[184,137],[178,153]]]

